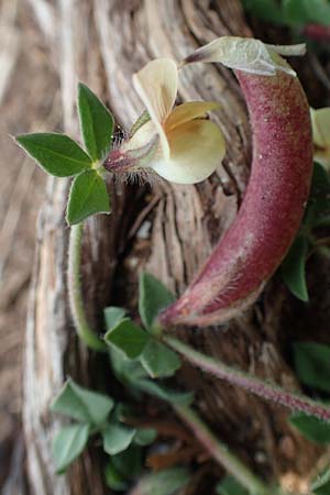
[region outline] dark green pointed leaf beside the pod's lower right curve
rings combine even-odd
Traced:
[[[305,265],[308,254],[308,239],[298,235],[280,266],[282,278],[289,290],[300,300],[308,301]]]

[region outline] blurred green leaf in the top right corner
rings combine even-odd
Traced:
[[[284,0],[283,14],[289,25],[316,22],[330,25],[330,4],[327,0]]]

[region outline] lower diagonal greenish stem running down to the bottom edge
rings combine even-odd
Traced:
[[[234,476],[251,494],[266,495],[271,494],[267,486],[256,477],[228,447],[221,443],[200,417],[188,406],[173,406],[178,416],[189,426],[196,438],[206,448],[206,450],[216,459],[226,470]]]

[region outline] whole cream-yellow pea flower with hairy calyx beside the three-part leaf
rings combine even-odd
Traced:
[[[178,70],[169,58],[150,62],[133,76],[133,86],[148,117],[107,158],[112,172],[152,169],[177,184],[210,176],[226,153],[222,132],[206,113],[216,102],[191,101],[175,107]]]

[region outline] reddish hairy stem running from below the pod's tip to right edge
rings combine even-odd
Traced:
[[[219,360],[215,360],[213,358],[209,358],[195,351],[189,345],[173,337],[164,336],[163,340],[175,351],[183,354],[191,364],[195,364],[218,378],[224,380],[241,388],[245,388],[258,397],[280,404],[294,411],[305,413],[307,416],[315,416],[330,422],[330,408],[322,403],[318,403],[300,394],[285,391],[278,385],[264,382],[256,376],[228,366]]]

